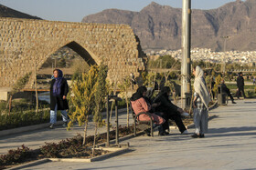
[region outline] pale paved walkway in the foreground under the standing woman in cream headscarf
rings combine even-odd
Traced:
[[[101,162],[50,162],[27,169],[256,169],[256,99],[236,102],[210,111],[218,117],[209,122],[208,135],[203,139],[179,135],[174,129],[168,136],[130,139],[132,152]],[[192,134],[194,129],[188,131]],[[47,135],[55,138],[54,131],[40,133],[43,135],[28,136],[39,137],[37,141],[44,141]],[[1,147],[8,141],[0,139]]]

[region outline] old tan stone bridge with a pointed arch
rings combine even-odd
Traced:
[[[144,70],[139,40],[129,25],[82,24],[0,18],[0,88],[39,68],[63,46],[77,52],[89,65],[108,65],[111,81],[122,81]]]

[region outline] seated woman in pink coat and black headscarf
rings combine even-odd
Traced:
[[[147,89],[145,86],[140,86],[137,89],[136,93],[134,93],[131,97],[131,103],[132,103],[132,107],[135,115],[138,115],[139,113],[142,113],[142,112],[150,113],[150,110],[152,109],[152,107],[155,107],[158,105],[158,104],[150,105],[149,103],[146,102],[144,98],[146,97],[146,91]],[[163,131],[162,124],[165,123],[165,119],[159,115],[155,115],[155,113],[150,113],[150,114],[155,125],[161,125],[159,128],[159,134],[161,134]],[[144,114],[139,115],[138,119],[140,121],[150,121],[150,117]]]

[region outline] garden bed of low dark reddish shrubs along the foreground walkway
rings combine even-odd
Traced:
[[[119,137],[133,134],[133,126],[119,127]],[[107,134],[97,135],[97,144],[103,144],[106,142]],[[115,138],[115,131],[110,132],[110,139]],[[82,145],[83,137],[77,135],[73,138],[60,141],[57,143],[46,143],[37,150],[30,150],[27,146],[22,145],[21,148],[16,150],[9,150],[8,154],[0,155],[0,169],[13,167],[15,165],[27,164],[31,161],[37,161],[42,159],[49,159],[52,161],[62,159],[90,159],[85,162],[96,161],[97,156],[109,155],[113,151],[110,149],[99,149],[94,150],[92,156],[92,145],[94,136],[90,135],[86,138],[86,144]],[[117,151],[115,151],[117,152]]]

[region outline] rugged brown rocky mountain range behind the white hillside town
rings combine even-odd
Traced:
[[[181,48],[180,8],[152,2],[140,12],[107,9],[82,19],[83,23],[131,25],[145,51]],[[192,10],[192,47],[222,51],[256,49],[256,1],[231,2],[212,10]]]

